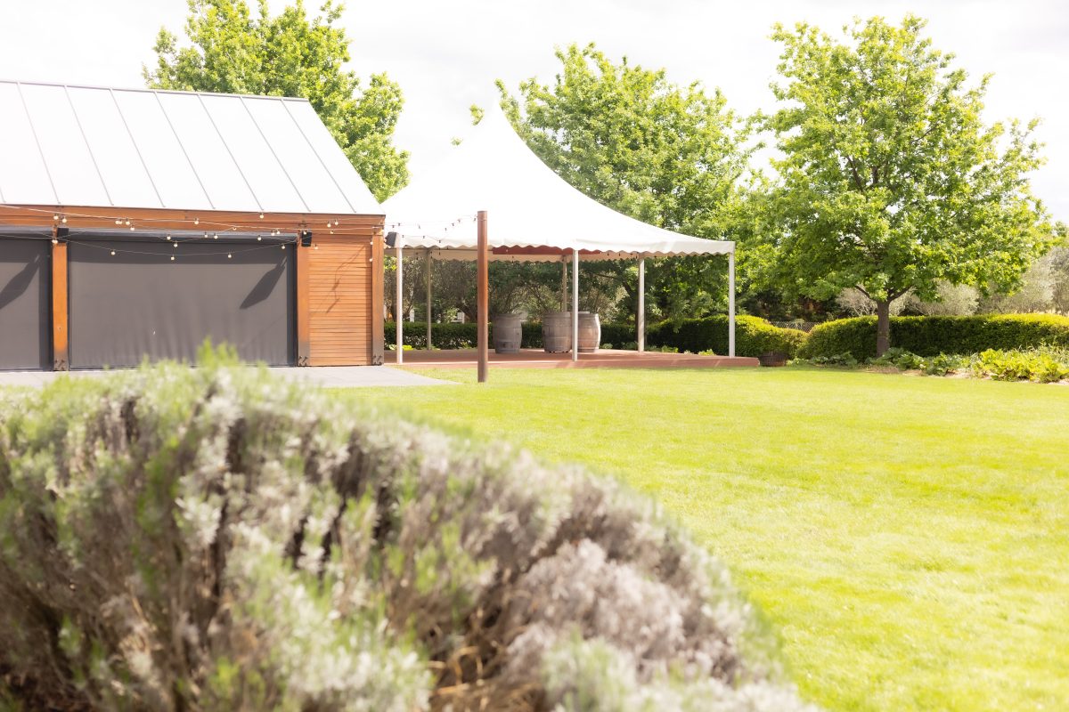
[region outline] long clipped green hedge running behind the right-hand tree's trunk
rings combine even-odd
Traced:
[[[1053,314],[899,316],[890,319],[890,345],[917,355],[979,353],[987,349],[1069,348],[1069,317]],[[876,355],[876,317],[838,319],[814,327],[799,355]]]

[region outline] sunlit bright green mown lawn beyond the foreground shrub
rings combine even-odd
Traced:
[[[472,369],[474,371],[474,369]],[[1069,387],[803,368],[421,370],[339,392],[649,492],[832,710],[1069,709]]]

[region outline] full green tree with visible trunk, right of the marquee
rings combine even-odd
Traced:
[[[1053,234],[1027,179],[1037,122],[985,124],[990,76],[967,86],[925,23],[855,20],[846,42],[805,23],[773,33],[786,81],[768,118],[783,152],[769,264],[797,294],[868,296],[878,353],[894,299],[931,299],[940,281],[1013,289]]]

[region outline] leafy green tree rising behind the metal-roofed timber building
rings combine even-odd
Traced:
[[[272,16],[266,0],[253,16],[245,0],[189,0],[179,46],[166,28],[156,36],[156,67],[143,67],[154,89],[299,96],[315,108],[379,201],[408,181],[408,154],[393,146],[401,88],[385,74],[361,86],[350,61],[348,38],[336,22],[343,7],[327,0],[308,18],[301,0]]]

